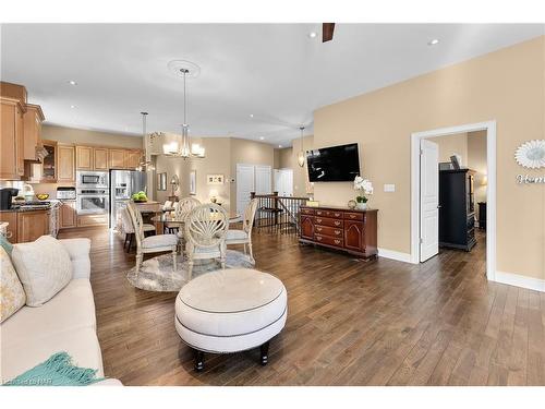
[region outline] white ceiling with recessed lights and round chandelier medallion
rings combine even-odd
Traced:
[[[148,131],[179,132],[182,82],[167,63],[190,60],[201,67],[187,81],[191,134],[289,145],[318,107],[544,33],[337,24],[322,44],[320,24],[2,24],[1,77],[24,84],[48,123],[138,134],[146,110]],[[440,43],[428,46],[433,38]]]

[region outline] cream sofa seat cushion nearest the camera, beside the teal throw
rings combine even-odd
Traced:
[[[3,333],[3,324],[2,324]],[[104,376],[102,356],[95,329],[78,328],[51,334],[47,337],[27,337],[15,346],[1,345],[2,362],[0,377],[2,383],[44,362],[53,353],[68,352],[73,363],[82,368],[96,369],[97,377]]]

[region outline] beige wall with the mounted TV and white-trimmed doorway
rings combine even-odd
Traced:
[[[315,111],[314,145],[359,142],[379,209],[378,245],[410,253],[411,133],[497,121],[497,269],[545,278],[545,185],[518,185],[521,143],[544,137],[545,37],[448,67]],[[395,183],[385,193],[384,183]],[[350,182],[316,183],[324,204],[346,205]]]

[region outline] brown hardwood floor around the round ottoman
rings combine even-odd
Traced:
[[[284,330],[258,351],[193,354],[173,323],[175,293],[133,288],[134,253],[105,229],[89,237],[107,376],[125,385],[545,385],[545,293],[488,282],[485,243],[421,265],[300,246],[255,233],[257,268],[288,289]]]

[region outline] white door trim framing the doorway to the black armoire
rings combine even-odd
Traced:
[[[486,277],[496,280],[496,121],[440,128],[411,134],[411,263],[420,260],[420,141],[425,137],[486,131]]]

